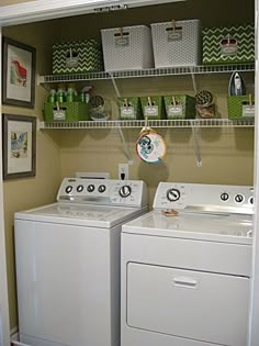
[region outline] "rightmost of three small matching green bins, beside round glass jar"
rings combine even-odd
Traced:
[[[165,96],[167,119],[194,119],[195,99],[188,94]]]

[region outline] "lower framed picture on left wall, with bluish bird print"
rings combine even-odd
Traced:
[[[3,179],[35,176],[36,118],[3,114]]]

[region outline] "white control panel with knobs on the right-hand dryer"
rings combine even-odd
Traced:
[[[153,208],[252,213],[254,189],[248,186],[160,182]]]

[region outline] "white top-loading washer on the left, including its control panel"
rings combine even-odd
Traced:
[[[117,346],[121,226],[147,211],[146,185],[65,178],[57,201],[15,213],[20,342]]]

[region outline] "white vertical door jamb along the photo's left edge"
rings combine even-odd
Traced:
[[[0,26],[0,47],[2,46],[2,31]],[[0,48],[1,51],[1,48]],[[0,76],[2,76],[2,62],[0,52]],[[0,82],[0,114],[2,114]],[[0,138],[2,138],[2,116],[0,116]],[[8,304],[8,279],[7,279],[7,257],[5,257],[5,235],[3,219],[3,183],[2,183],[2,150],[0,150],[0,346],[10,346],[10,322]]]

